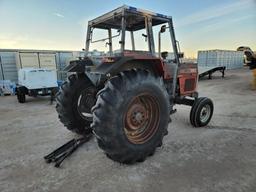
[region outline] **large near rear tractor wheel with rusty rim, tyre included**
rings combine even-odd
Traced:
[[[127,164],[153,155],[167,134],[170,114],[162,79],[145,70],[126,71],[97,95],[91,127],[106,155]]]

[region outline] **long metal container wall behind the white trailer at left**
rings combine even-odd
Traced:
[[[20,58],[20,54],[23,56]],[[35,57],[32,57],[34,56]],[[0,50],[0,80],[18,81],[18,69],[21,68],[20,61],[25,67],[56,68],[58,80],[66,80],[67,73],[63,69],[69,64],[69,61],[76,57],[83,57],[83,51],[54,51],[54,50]],[[55,57],[55,61],[54,61]],[[34,58],[34,59],[33,59]],[[30,60],[31,61],[30,61]],[[29,62],[27,62],[29,60]],[[27,65],[26,65],[27,64]],[[31,65],[30,65],[31,64]],[[56,65],[56,67],[55,67]],[[3,70],[2,70],[3,68]]]

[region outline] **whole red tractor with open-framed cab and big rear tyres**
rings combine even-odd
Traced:
[[[158,36],[153,35],[156,29]],[[134,33],[142,30],[145,34],[140,35],[147,45],[144,51],[135,48],[140,43],[136,44]],[[96,31],[105,32],[106,37],[102,38],[102,32],[101,39],[95,40]],[[112,35],[113,31],[117,34]],[[167,32],[169,42],[161,41]],[[89,48],[97,42],[106,42],[108,47],[101,59],[90,56]],[[173,58],[161,52],[167,42]],[[192,107],[190,122],[194,127],[206,126],[211,120],[213,103],[198,97],[197,65],[180,62],[182,54],[171,17],[119,7],[89,21],[85,53],[66,67],[72,75],[57,94],[56,109],[69,130],[82,135],[93,132],[99,147],[114,161],[130,164],[153,155],[168,133],[175,104]]]

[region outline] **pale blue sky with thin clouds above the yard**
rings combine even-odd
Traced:
[[[172,16],[187,57],[256,51],[256,0],[0,0],[0,48],[81,50],[87,21],[123,4]]]

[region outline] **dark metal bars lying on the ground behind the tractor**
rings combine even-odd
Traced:
[[[72,139],[64,145],[60,146],[50,154],[44,156],[46,163],[55,163],[55,167],[60,167],[62,162],[70,156],[78,147],[88,142],[92,134],[86,135],[78,139]]]

